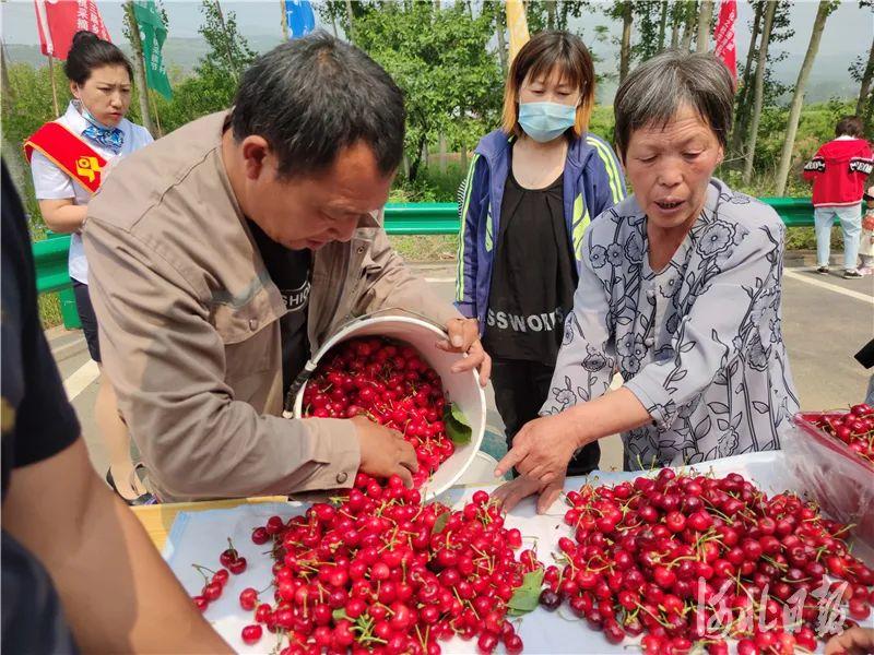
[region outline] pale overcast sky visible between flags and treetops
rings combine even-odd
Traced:
[[[559,0],[560,1],[560,0]],[[198,26],[201,23],[200,2],[191,0],[165,0],[169,16],[169,34],[176,37],[197,37]],[[813,25],[818,2],[815,0],[795,2],[792,25],[795,35],[792,39],[781,44],[781,48],[790,53],[803,55],[807,47],[811,26]],[[97,0],[104,21],[114,40],[121,36],[122,9],[120,2],[111,0]],[[719,4],[717,3],[717,11]],[[237,23],[244,36],[275,35],[281,38],[282,4],[280,0],[243,0],[236,2],[222,1],[225,11],[235,11]],[[37,44],[36,19],[33,0],[3,0],[0,4],[0,20],[2,20],[2,34],[5,43],[10,44]],[[753,10],[748,2],[737,2],[737,50],[739,60],[746,53],[749,44],[751,29],[748,23]],[[618,31],[617,21],[607,20],[601,11],[593,11],[588,23],[611,25]],[[330,26],[329,26],[330,27]],[[582,28],[583,38],[591,37],[593,29]],[[866,52],[871,47],[874,35],[874,14],[871,9],[860,9],[857,0],[842,2],[841,7],[828,19],[820,52],[832,55],[855,55]]]

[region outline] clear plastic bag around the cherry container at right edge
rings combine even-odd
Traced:
[[[874,466],[812,420],[841,414],[796,414],[781,446],[800,488],[830,519],[852,525],[853,536],[874,548]]]

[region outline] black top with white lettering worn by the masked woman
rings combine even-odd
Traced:
[[[545,189],[504,187],[484,347],[495,357],[555,364],[577,269],[567,237],[564,174]]]

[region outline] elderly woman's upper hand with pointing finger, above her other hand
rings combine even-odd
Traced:
[[[542,416],[527,422],[512,440],[512,448],[498,462],[495,475],[500,477],[516,467],[541,484],[564,479],[574,452],[584,445],[575,424],[566,414]]]

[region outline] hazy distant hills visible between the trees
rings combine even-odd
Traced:
[[[273,35],[253,35],[246,38],[256,52],[265,52],[279,44],[279,39]],[[130,47],[127,44],[122,44],[121,49],[130,55]],[[46,64],[46,58],[39,52],[37,46],[7,44],[7,51],[12,62],[27,62],[32,66]],[[205,52],[206,45],[200,38],[169,37],[164,44],[164,58],[168,68],[178,71],[181,75],[189,74]],[[598,53],[605,62],[615,60],[613,53]],[[820,51],[807,81],[806,102],[822,103],[832,97],[854,98],[859,94],[859,84],[853,82],[847,71],[852,58],[852,55],[846,52]],[[789,55],[776,63],[773,70],[777,79],[783,84],[794,84],[803,59],[803,55]],[[739,66],[743,66],[743,62],[739,62]],[[610,104],[615,92],[616,82],[605,82],[599,88],[598,102]],[[784,99],[789,102],[790,98]]]

